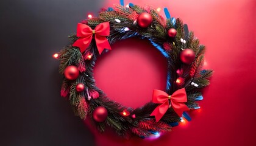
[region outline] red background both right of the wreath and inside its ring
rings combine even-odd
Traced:
[[[102,7],[118,2],[106,1]],[[256,145],[255,1],[129,2],[168,7],[205,44],[204,68],[215,73],[201,109],[190,112],[191,122],[151,140],[99,134],[91,127],[97,145]],[[152,89],[165,89],[165,58],[147,40],[119,41],[112,49],[94,70],[97,85],[111,99],[136,108],[151,100]]]

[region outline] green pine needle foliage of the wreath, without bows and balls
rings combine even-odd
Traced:
[[[136,21],[137,16],[143,12],[150,13],[153,19],[151,26],[145,29],[139,27]],[[116,19],[119,19],[121,22],[117,22]],[[164,51],[168,54],[168,75],[170,77],[168,82],[171,86],[169,89],[166,89],[166,92],[171,95],[177,89],[185,88],[188,100],[186,105],[190,109],[198,106],[196,97],[202,95],[199,89],[209,85],[209,78],[212,76],[213,71],[201,71],[202,65],[204,64],[205,46],[200,44],[199,40],[194,37],[193,32],[189,33],[185,47],[192,49],[196,54],[196,58],[194,62],[189,65],[180,61],[180,52],[182,49],[185,49],[184,44],[180,41],[181,38],[185,38],[181,19],[177,19],[176,24],[173,25],[170,19],[165,20],[157,11],[150,7],[144,9],[138,5],[134,5],[133,7],[126,8],[121,5],[115,5],[113,11],[102,11],[99,13],[98,18],[90,18],[87,20],[87,23],[88,26],[94,29],[98,24],[105,21],[110,22],[110,36],[107,37],[110,44],[118,40],[129,38],[130,36],[147,38],[160,47],[167,44],[169,49]],[[129,28],[129,31],[124,31],[125,27]],[[169,38],[167,35],[170,28],[177,30],[175,38]],[[77,39],[78,37],[75,34],[69,36],[71,45],[64,47],[60,51],[59,58],[60,74],[63,74],[65,68],[70,65],[77,66],[80,71],[77,80],[69,81],[64,79],[62,85],[62,91],[69,91],[69,101],[76,116],[85,119],[88,114],[91,117],[91,122],[99,131],[104,132],[106,126],[108,126],[112,127],[119,136],[124,137],[129,135],[129,133],[140,137],[148,137],[151,135],[150,131],[170,131],[171,126],[169,126],[168,123],[180,121],[180,117],[172,108],[168,109],[159,122],[155,122],[155,117],[150,115],[157,107],[157,104],[149,102],[140,108],[132,109],[108,99],[104,92],[96,87],[93,78],[93,68],[96,58],[99,57],[95,40],[91,41],[90,46],[85,50],[84,54],[82,54],[79,48],[72,46]],[[84,60],[83,55],[88,53],[92,53],[93,57],[91,60]],[[178,69],[182,69],[181,75],[176,73]],[[182,86],[176,84],[178,77],[185,78],[185,82]],[[191,85],[191,82],[197,83],[198,86]],[[86,89],[97,91],[99,97],[89,100],[90,95],[88,95],[86,90],[84,92],[76,91],[77,83],[84,83]],[[93,120],[92,113],[98,106],[104,106],[108,111],[107,119],[105,119],[104,122],[96,122]],[[124,110],[127,110],[130,115],[123,116],[121,113]],[[133,114],[136,118],[132,118]]]

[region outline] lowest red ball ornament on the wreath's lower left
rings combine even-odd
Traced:
[[[103,122],[107,118],[107,109],[103,106],[98,106],[93,111],[93,119],[97,122]]]

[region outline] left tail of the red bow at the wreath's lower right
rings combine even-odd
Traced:
[[[163,115],[165,115],[168,108],[169,108],[169,102],[167,100],[162,105],[158,105],[157,108],[154,109],[154,111],[151,113],[150,116],[155,116],[155,121],[158,122],[163,117]]]

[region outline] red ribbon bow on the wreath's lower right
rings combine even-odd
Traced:
[[[169,100],[171,100],[171,106],[174,111],[181,117],[183,111],[188,111],[189,108],[185,105],[187,102],[187,94],[185,88],[178,89],[171,96],[166,92],[154,89],[153,91],[153,103],[162,103],[151,113],[150,116],[155,116],[155,120],[158,122],[169,108]]]

